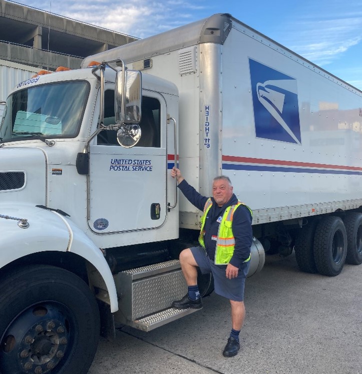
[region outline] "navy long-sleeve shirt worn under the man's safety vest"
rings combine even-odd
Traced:
[[[185,179],[178,185],[178,187],[192,205],[194,205],[201,211],[204,210],[204,206],[208,197],[199,194],[191,185],[186,182]],[[221,207],[217,205],[213,197],[211,197],[211,200],[212,206],[205,220],[204,242],[208,256],[211,260],[214,260],[216,237],[219,229],[219,224],[221,222],[221,218],[218,218],[222,217],[225,209],[228,206],[237,204],[238,199],[233,194],[230,200]],[[233,256],[231,257],[230,264],[236,267],[239,267],[240,264],[247,258],[249,258],[250,255],[250,247],[252,244],[251,220],[252,217],[250,211],[244,205],[240,205],[234,211],[232,219],[232,232],[235,238],[235,249]]]

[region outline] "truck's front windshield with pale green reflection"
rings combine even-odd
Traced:
[[[0,142],[77,136],[88,93],[89,84],[84,81],[53,83],[15,92],[7,100]]]

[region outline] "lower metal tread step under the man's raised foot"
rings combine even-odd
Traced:
[[[160,312],[150,314],[146,317],[136,319],[131,323],[130,325],[132,327],[136,327],[143,331],[151,331],[154,328],[160,327],[166,323],[175,321],[176,319],[179,319],[181,317],[184,317],[185,315],[191,314],[195,311],[198,311],[200,309],[175,309],[175,308],[168,308],[165,310],[162,310]]]

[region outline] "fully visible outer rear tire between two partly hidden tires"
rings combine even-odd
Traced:
[[[339,217],[324,217],[314,235],[314,262],[322,275],[336,276],[343,268],[347,254],[347,233]]]

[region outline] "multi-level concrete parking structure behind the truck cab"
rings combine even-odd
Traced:
[[[0,60],[38,71],[59,66],[77,69],[84,57],[135,40],[129,35],[0,0]]]

